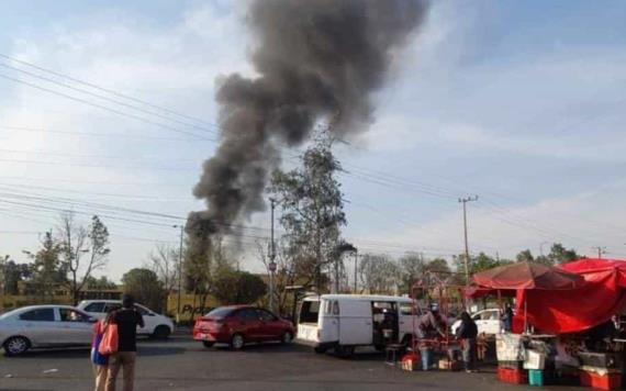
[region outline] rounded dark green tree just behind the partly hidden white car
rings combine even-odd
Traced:
[[[122,276],[124,293],[131,294],[136,302],[160,312],[164,310],[166,291],[157,275],[144,268],[128,270]]]

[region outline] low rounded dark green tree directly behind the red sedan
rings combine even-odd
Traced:
[[[213,295],[222,304],[253,304],[267,293],[259,276],[223,268],[215,276]]]

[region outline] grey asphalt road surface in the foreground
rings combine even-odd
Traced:
[[[189,337],[139,343],[136,390],[536,390],[498,382],[493,368],[480,373],[405,372],[380,354],[343,360],[310,348],[273,344],[243,351],[205,349]],[[0,356],[0,390],[90,390],[89,351],[41,350]],[[554,390],[567,390],[555,387]]]

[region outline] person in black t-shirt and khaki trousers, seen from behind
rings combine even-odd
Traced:
[[[111,355],[107,375],[107,391],[115,391],[115,380],[120,369],[124,375],[124,391],[133,391],[135,380],[135,359],[137,354],[137,326],[144,327],[144,319],[135,309],[133,297],[124,294],[122,309],[111,316],[111,322],[118,325],[118,351]]]

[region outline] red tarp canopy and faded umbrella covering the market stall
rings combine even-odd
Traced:
[[[626,306],[626,261],[617,259],[586,258],[557,268],[519,262],[477,273],[473,281],[474,294],[514,291],[517,314],[547,333],[584,331]]]

